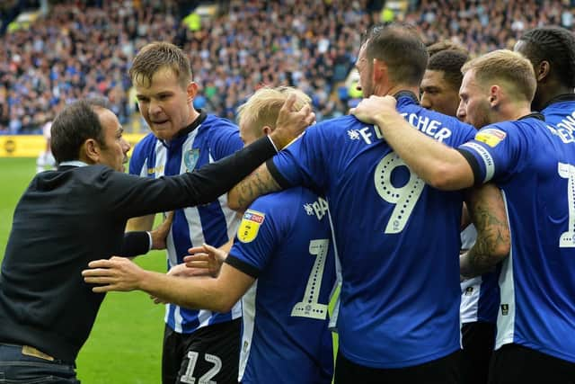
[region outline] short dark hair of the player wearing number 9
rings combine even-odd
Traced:
[[[420,85],[429,57],[415,28],[397,22],[378,24],[367,31],[363,41],[367,60],[385,61],[394,83]]]

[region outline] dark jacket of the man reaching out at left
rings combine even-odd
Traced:
[[[214,201],[275,154],[267,138],[198,171],[149,179],[105,165],[37,174],[18,202],[0,275],[0,342],[74,362],[103,294],[81,271],[118,255],[129,218]]]

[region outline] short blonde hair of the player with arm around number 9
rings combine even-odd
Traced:
[[[473,58],[461,68],[463,74],[471,70],[482,85],[500,82],[515,100],[533,101],[537,87],[535,71],[531,62],[521,54],[509,49],[494,50]]]

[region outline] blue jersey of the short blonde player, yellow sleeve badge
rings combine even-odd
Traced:
[[[301,187],[262,196],[246,211],[230,259],[257,277],[243,296],[241,381],[331,383],[335,261],[326,202]]]

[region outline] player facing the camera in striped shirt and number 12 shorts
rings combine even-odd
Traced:
[[[130,174],[158,178],[190,172],[243,147],[233,123],[194,108],[198,85],[192,81],[190,59],[178,47],[167,42],[147,44],[134,58],[129,75],[139,110],[152,130],[134,149]],[[148,230],[153,221],[154,216],[131,219],[127,229]],[[176,210],[167,239],[168,269],[181,264],[191,246],[224,246],[239,222],[227,208],[225,195],[209,204]],[[215,380],[235,380],[241,311],[239,303],[226,313],[166,305],[164,384],[191,377],[190,367],[194,377],[217,367]],[[199,353],[197,360],[190,353]]]

